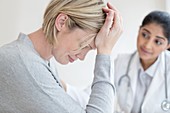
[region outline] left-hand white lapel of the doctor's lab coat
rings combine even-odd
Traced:
[[[136,85],[137,85],[137,77],[138,77],[138,70],[139,70],[139,56],[136,52],[134,55],[134,58],[132,59],[130,63],[130,69],[129,69],[129,77],[130,77],[130,87],[132,89],[132,92],[128,92],[127,97],[127,109],[130,113],[134,99],[135,99],[135,92],[136,92]]]

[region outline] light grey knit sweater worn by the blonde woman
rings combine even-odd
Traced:
[[[0,48],[0,113],[113,113],[110,66],[110,56],[96,56],[92,93],[83,109],[63,90],[53,63],[20,34]]]

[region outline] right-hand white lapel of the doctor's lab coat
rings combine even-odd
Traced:
[[[148,89],[148,92],[146,93],[144,102],[143,102],[143,106],[142,108],[151,108],[152,105],[150,104],[150,99],[156,99],[156,97],[154,96],[154,94],[156,92],[159,93],[159,88],[160,85],[164,82],[164,72],[165,72],[165,60],[164,60],[164,53],[162,53],[160,55],[160,61],[159,61],[159,66],[156,69],[155,75],[153,77],[153,80],[150,84],[150,87]]]

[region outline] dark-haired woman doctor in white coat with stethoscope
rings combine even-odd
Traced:
[[[115,113],[170,113],[170,14],[153,11],[143,20],[137,51],[114,62]],[[85,92],[66,85],[67,93],[85,107]]]

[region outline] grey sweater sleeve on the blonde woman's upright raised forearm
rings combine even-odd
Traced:
[[[90,113],[113,113],[114,85],[111,82],[111,59],[107,55],[97,55],[92,93],[87,105]]]

